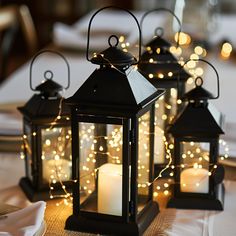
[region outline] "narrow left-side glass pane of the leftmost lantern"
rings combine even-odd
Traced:
[[[25,142],[25,155],[26,155],[26,165],[27,165],[27,177],[33,181],[32,176],[32,131],[30,125],[25,123],[24,133],[26,138],[24,139]]]

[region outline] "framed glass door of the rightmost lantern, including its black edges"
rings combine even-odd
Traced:
[[[207,196],[211,193],[212,142],[209,139],[184,139],[177,143],[176,166],[179,194]]]

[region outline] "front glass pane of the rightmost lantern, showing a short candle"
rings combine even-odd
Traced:
[[[207,142],[180,143],[180,190],[181,192],[209,192],[209,154]]]

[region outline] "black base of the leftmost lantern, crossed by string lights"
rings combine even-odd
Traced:
[[[49,188],[47,187],[44,189],[35,189],[28,177],[21,178],[19,185],[31,202],[50,199]],[[63,189],[55,189],[53,190],[53,193],[55,195],[65,194]]]

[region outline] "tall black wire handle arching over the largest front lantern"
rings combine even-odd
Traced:
[[[88,25],[88,36],[87,36],[87,49],[86,49],[86,58],[87,58],[87,60],[88,60],[88,61],[91,61],[91,58],[89,58],[89,44],[90,44],[90,30],[91,30],[92,21],[93,21],[94,17],[95,17],[99,12],[101,12],[101,11],[103,11],[103,10],[105,10],[105,9],[108,9],[108,8],[115,8],[115,9],[119,9],[119,10],[125,11],[125,12],[127,12],[128,14],[130,14],[130,15],[134,18],[134,20],[135,20],[135,22],[136,22],[136,24],[137,24],[137,27],[138,27],[138,32],[139,32],[139,51],[138,51],[138,58],[140,58],[140,56],[141,56],[141,45],[142,45],[142,43],[141,43],[141,28],[140,28],[140,25],[139,25],[139,22],[138,22],[136,16],[135,16],[131,11],[129,11],[129,10],[127,10],[127,9],[124,9],[124,8],[122,8],[122,7],[107,6],[107,7],[103,7],[103,8],[100,8],[99,10],[97,10],[97,11],[92,15],[92,17],[91,17],[91,19],[90,19],[90,21],[89,21],[89,25]],[[112,36],[114,37],[114,35],[112,35]],[[110,39],[110,38],[109,38],[109,39]],[[110,44],[110,43],[109,43],[109,44]],[[139,59],[138,59],[138,61],[139,61]],[[138,61],[137,61],[136,64],[138,64]]]

